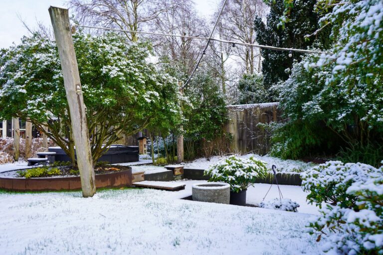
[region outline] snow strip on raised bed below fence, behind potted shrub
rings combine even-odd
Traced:
[[[240,157],[249,158],[254,156],[257,159],[263,160],[267,163],[267,168],[271,169],[272,165],[276,165],[278,172],[304,172],[311,167],[315,166],[314,163],[306,163],[299,160],[283,160],[277,157],[271,157],[268,155],[260,156],[257,154],[246,154]],[[213,156],[208,161],[206,158],[198,158],[190,163],[186,163],[186,168],[192,169],[207,169],[211,164],[217,163],[224,157],[221,156]]]

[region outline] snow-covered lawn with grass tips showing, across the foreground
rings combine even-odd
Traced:
[[[320,254],[305,232],[310,215],[176,199],[192,182],[86,199],[0,192],[1,254]]]

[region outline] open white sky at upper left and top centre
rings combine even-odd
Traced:
[[[200,15],[210,17],[219,0],[194,2]],[[36,20],[50,25],[50,5],[65,6],[65,0],[0,0],[0,48],[7,48],[13,42],[18,43],[28,33],[18,16],[30,27],[36,26]]]

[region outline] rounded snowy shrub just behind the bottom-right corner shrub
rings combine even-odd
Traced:
[[[302,188],[309,191],[307,200],[321,207],[322,202],[339,204],[342,208],[354,208],[358,194],[348,194],[355,182],[367,181],[372,173],[380,170],[367,164],[329,161],[302,173]]]

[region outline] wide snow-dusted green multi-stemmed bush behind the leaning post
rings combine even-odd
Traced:
[[[114,33],[90,36],[81,31],[73,35],[73,43],[94,161],[102,155],[103,143],[108,146],[120,133],[145,128],[150,121],[156,122],[158,113],[168,119],[180,116],[177,82],[147,62],[152,52],[149,43],[127,42]],[[55,42],[39,34],[23,37],[21,44],[1,51],[0,68],[0,118],[30,119],[40,129],[47,125],[47,135],[74,162]]]

